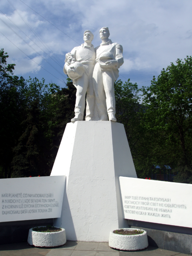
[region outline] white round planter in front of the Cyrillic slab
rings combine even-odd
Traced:
[[[118,229],[121,230],[121,229]],[[124,228],[123,230],[138,230],[136,228]],[[114,231],[114,230],[113,230]],[[110,232],[109,246],[118,250],[142,250],[148,247],[147,232],[144,231],[139,235],[119,235]]]

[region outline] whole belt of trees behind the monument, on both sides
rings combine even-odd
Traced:
[[[70,79],[60,89],[44,79],[18,78],[8,57],[1,49],[0,178],[49,175],[74,117],[76,88]],[[192,183],[192,58],[171,63],[149,87],[116,81],[115,97],[137,176],[169,165],[178,173],[174,181]]]

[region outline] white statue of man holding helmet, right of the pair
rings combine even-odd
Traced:
[[[102,43],[96,47],[96,65],[93,70],[93,87],[96,106],[101,121],[116,122],[114,82],[119,77],[118,68],[123,64],[122,46],[109,39],[108,27],[99,31]]]

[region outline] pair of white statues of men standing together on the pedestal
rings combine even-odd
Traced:
[[[114,82],[123,64],[122,46],[109,39],[108,27],[99,31],[102,43],[94,49],[93,34],[84,32],[84,44],[66,54],[64,73],[77,89],[75,117],[71,122],[83,120],[86,101],[86,121],[113,121],[115,118]]]

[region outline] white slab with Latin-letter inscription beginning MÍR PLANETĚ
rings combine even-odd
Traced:
[[[0,179],[0,222],[60,218],[66,176]]]

